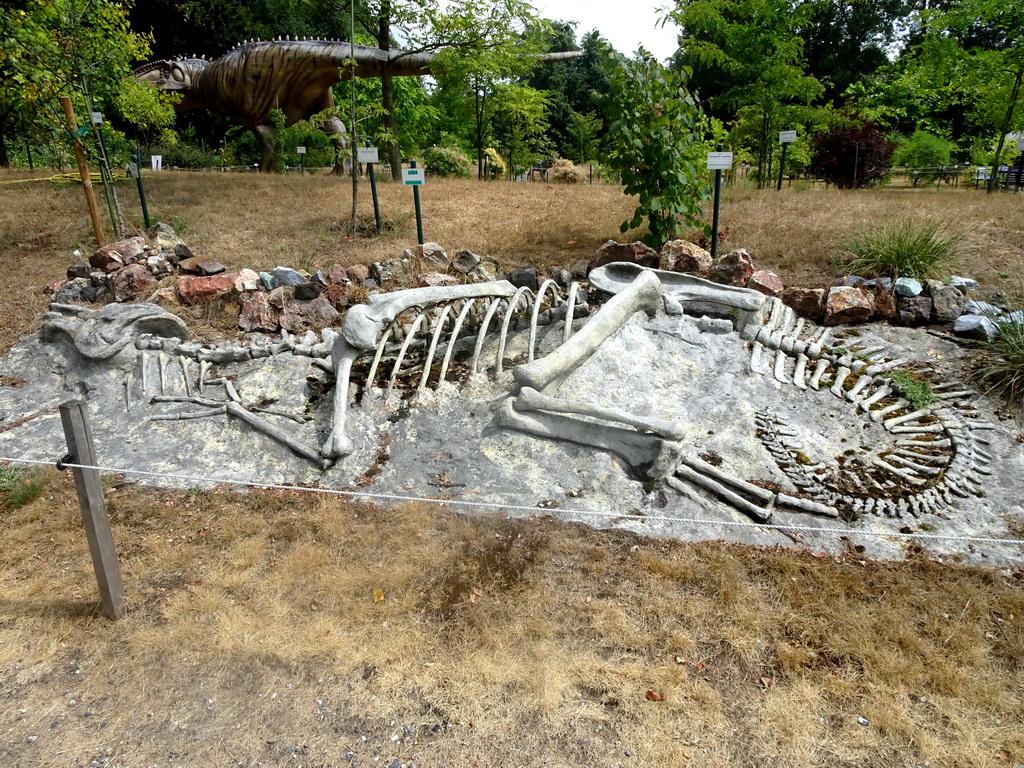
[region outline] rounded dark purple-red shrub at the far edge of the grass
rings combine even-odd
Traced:
[[[854,119],[814,136],[811,173],[840,189],[867,186],[886,177],[895,151],[874,123]]]

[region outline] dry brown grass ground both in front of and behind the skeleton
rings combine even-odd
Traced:
[[[344,240],[347,182],[146,183],[154,213],[230,267],[369,262],[415,240],[397,185],[381,189],[393,229]],[[137,216],[132,194],[122,203]],[[631,212],[597,184],[431,180],[423,196],[429,240],[509,265],[587,258]],[[40,288],[74,249],[88,255],[90,236],[77,187],[0,184],[0,201],[6,349],[38,328]],[[1020,274],[1019,196],[737,187],[723,208],[726,245],[800,285],[830,282],[844,231],[899,216],[961,223],[963,273],[1008,289]],[[114,623],[70,474],[0,480],[3,765],[1024,763],[1020,566],[108,477],[128,605]]]

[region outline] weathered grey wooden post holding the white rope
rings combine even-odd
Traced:
[[[92,429],[89,427],[84,400],[70,400],[60,406],[60,422],[68,440],[69,461],[72,464],[96,466],[96,452],[92,446]],[[121,566],[114,548],[111,534],[111,519],[106,515],[103,487],[99,481],[98,469],[73,467],[78,504],[82,509],[85,536],[89,540],[89,554],[92,567],[96,571],[99,597],[103,603],[103,615],[120,618],[125,612],[125,589],[121,582]]]

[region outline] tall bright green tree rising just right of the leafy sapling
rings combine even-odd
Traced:
[[[692,67],[694,87],[712,116],[727,121],[748,108],[758,124],[755,153],[761,186],[775,133],[798,117],[823,86],[804,70],[800,30],[813,5],[797,0],[677,0],[669,18],[681,28],[676,67]]]

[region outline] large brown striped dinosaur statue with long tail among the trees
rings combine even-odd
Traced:
[[[582,51],[565,51],[545,53],[538,59],[550,63],[581,55]],[[275,40],[246,42],[212,61],[205,57],[152,61],[135,70],[135,77],[179,92],[182,98],[174,106],[176,112],[206,109],[243,123],[262,145],[260,170],[270,172],[272,110],[285,114],[287,127],[333,106],[331,87],[351,77],[352,59],[356,77],[380,77],[385,65],[392,76],[416,77],[431,74],[435,56],[337,40]],[[337,117],[328,119],[324,132],[338,153],[347,148],[345,126]],[[341,167],[336,165],[335,172],[341,172]]]

